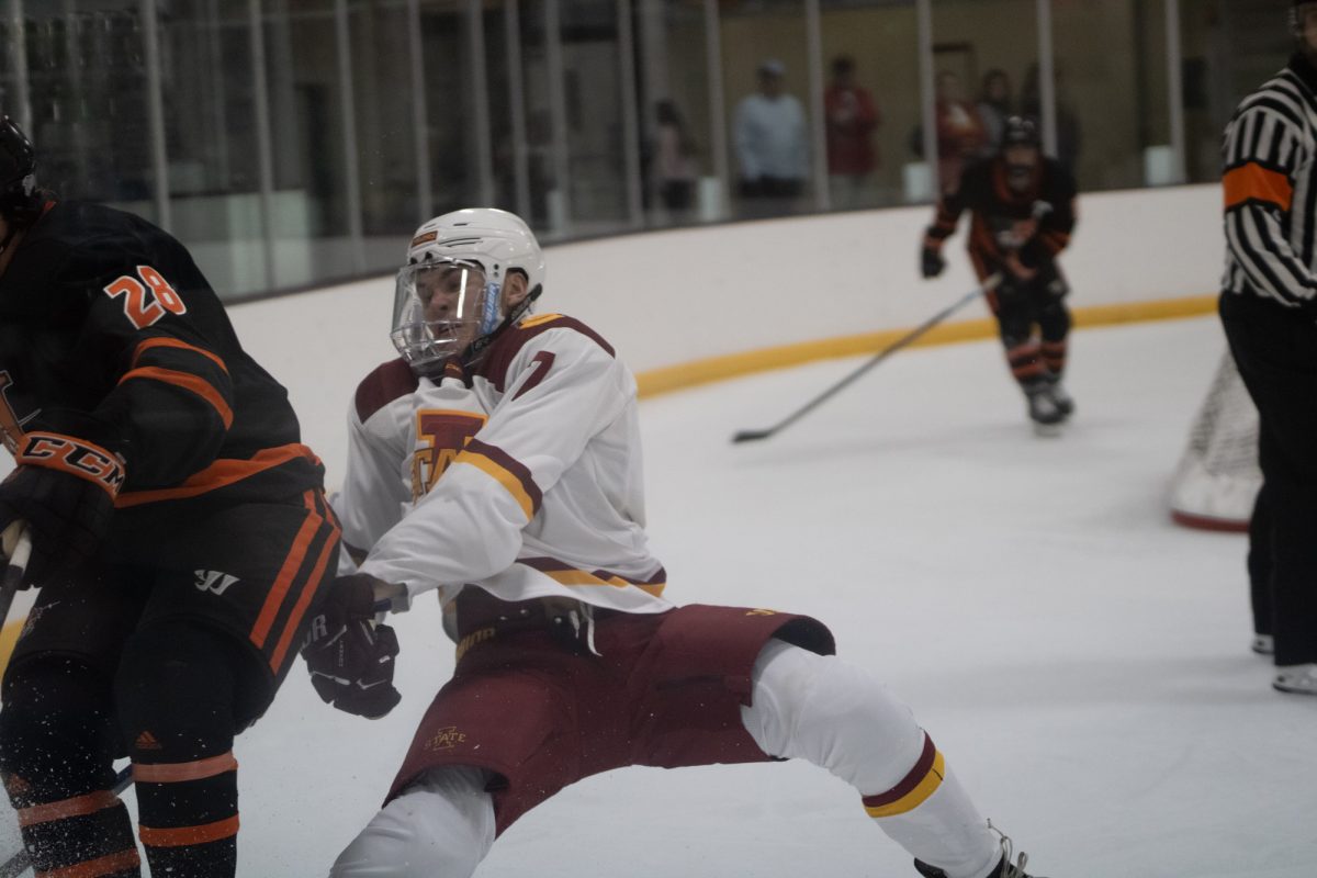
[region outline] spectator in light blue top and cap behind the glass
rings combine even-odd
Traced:
[[[747,217],[793,213],[809,178],[805,111],[784,92],[785,72],[782,62],[765,61],[759,66],[757,91],[736,104],[734,143]]]

